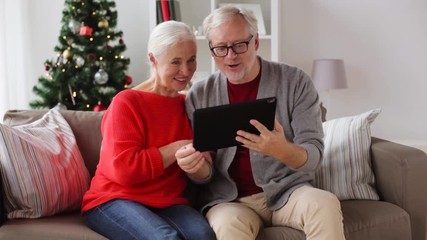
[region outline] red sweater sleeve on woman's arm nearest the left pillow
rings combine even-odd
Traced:
[[[101,127],[103,141],[98,167],[105,177],[122,185],[149,181],[164,172],[158,148],[146,144],[144,108],[129,96],[118,94],[114,98]]]

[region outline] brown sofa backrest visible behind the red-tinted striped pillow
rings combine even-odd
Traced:
[[[48,110],[9,110],[3,123],[9,126],[23,125],[41,118]],[[76,137],[77,145],[91,176],[99,161],[101,147],[101,121],[104,112],[61,110]]]

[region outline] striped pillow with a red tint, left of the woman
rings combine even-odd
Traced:
[[[90,181],[74,134],[55,109],[30,124],[0,124],[0,170],[10,219],[77,210]]]

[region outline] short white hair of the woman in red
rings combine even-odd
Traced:
[[[177,21],[162,22],[151,32],[147,51],[158,57],[167,47],[182,40],[194,40],[196,43],[196,36],[187,24]]]

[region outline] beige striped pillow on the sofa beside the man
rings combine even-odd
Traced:
[[[381,112],[338,118],[323,123],[325,150],[314,185],[340,200],[378,200],[370,159],[370,125]]]

